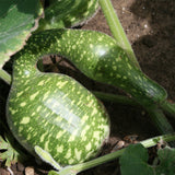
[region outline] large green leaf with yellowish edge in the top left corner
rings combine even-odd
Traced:
[[[39,0],[0,1],[0,69],[24,46],[42,13]]]

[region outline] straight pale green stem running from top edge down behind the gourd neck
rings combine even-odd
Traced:
[[[114,38],[117,40],[118,45],[127,51],[127,55],[132,60],[132,62],[138,68],[140,68],[139,62],[135,56],[131,45],[126,36],[126,33],[119,22],[119,19],[113,8],[110,0],[100,0],[100,5],[106,18],[107,24],[110,28]]]

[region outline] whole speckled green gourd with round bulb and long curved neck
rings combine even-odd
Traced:
[[[109,121],[103,105],[77,81],[37,69],[37,61],[49,54],[67,57],[91,79],[121,88],[144,106],[166,98],[164,89],[103,33],[51,30],[33,35],[15,55],[8,124],[30,152],[39,145],[61,165],[95,156],[109,133]]]

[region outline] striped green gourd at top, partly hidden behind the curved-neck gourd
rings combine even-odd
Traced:
[[[57,0],[45,10],[37,31],[72,27],[84,23],[98,9],[98,0]]]

